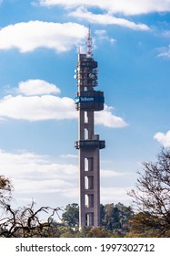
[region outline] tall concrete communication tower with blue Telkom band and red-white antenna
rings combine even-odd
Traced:
[[[86,54],[78,53],[75,69],[78,91],[75,106],[78,111],[78,141],[75,148],[79,155],[79,226],[100,226],[100,158],[99,151],[105,148],[105,141],[95,134],[95,112],[104,109],[104,92],[95,91],[97,62],[92,53],[90,27],[87,35]]]

